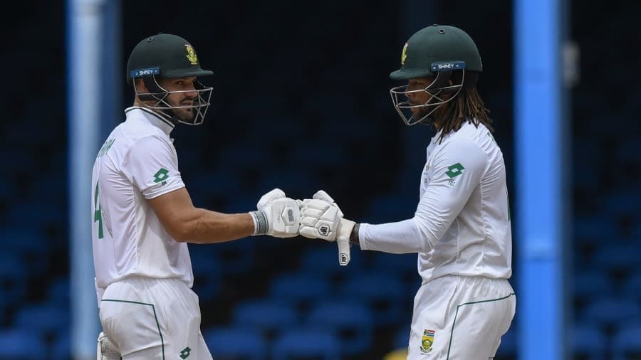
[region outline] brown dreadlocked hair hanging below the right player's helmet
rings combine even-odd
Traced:
[[[460,129],[464,122],[471,122],[476,127],[483,124],[490,132],[494,132],[489,110],[485,108],[481,95],[474,86],[464,85],[459,95],[447,102],[439,120],[441,120],[437,128],[437,131],[441,130],[439,143],[443,141],[446,134]]]

